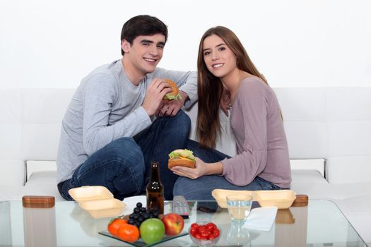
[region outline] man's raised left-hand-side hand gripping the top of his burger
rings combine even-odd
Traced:
[[[147,88],[146,97],[144,97],[142,104],[142,107],[149,116],[155,114],[167,92],[171,92],[169,83],[165,83],[163,79],[159,78],[152,80],[151,85]]]

